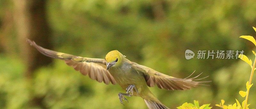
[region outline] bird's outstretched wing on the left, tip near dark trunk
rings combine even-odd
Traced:
[[[45,49],[29,39],[27,39],[27,42],[30,43],[30,45],[34,46],[39,52],[41,52],[45,56],[64,60],[67,65],[72,66],[76,71],[80,71],[83,75],[88,74],[89,77],[93,80],[97,80],[100,83],[103,81],[107,85],[110,82],[113,85],[116,84],[116,80],[106,69],[107,66],[105,59],[74,56]]]

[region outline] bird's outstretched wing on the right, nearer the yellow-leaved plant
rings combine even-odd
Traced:
[[[175,78],[169,75],[165,75],[163,73],[157,72],[149,67],[143,66],[143,65],[139,65],[137,63],[132,64],[132,67],[143,73],[144,78],[147,82],[147,85],[149,87],[153,87],[155,86],[155,84],[158,86],[158,88],[160,89],[167,89],[167,90],[186,90],[186,89],[191,89],[191,87],[196,87],[196,85],[199,85],[200,83],[207,83],[207,82],[211,82],[211,81],[197,81],[197,80],[201,80],[204,78],[199,78],[199,79],[195,79],[198,76],[194,77],[194,78],[188,78],[190,76],[188,76],[187,78]],[[202,84],[201,84],[202,85]]]

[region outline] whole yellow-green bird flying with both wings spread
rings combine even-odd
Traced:
[[[188,78],[194,72],[183,79],[165,75],[128,60],[125,58],[126,56],[117,50],[108,52],[105,59],[84,58],[45,49],[29,39],[27,39],[27,42],[45,56],[64,60],[67,65],[72,66],[83,75],[88,74],[93,80],[97,80],[98,82],[103,81],[105,84],[109,84],[110,82],[113,85],[116,85],[116,83],[119,84],[126,91],[125,93],[118,94],[122,104],[124,100],[128,101],[124,96],[131,97],[135,95],[143,98],[149,109],[169,109],[150,92],[148,86],[153,87],[157,85],[160,89],[167,90],[186,90],[200,83],[210,82],[197,81],[203,79],[195,79],[200,74],[194,78]]]

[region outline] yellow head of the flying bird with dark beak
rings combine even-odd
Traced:
[[[106,58],[105,58],[107,61],[107,70],[110,67],[117,67],[117,66],[121,65],[122,56],[123,55],[117,50],[108,52],[108,54],[106,55]]]

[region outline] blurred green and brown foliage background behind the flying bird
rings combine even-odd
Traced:
[[[255,0],[1,0],[1,109],[147,109],[143,99],[117,97],[119,85],[83,76],[62,60],[48,58],[25,39],[55,51],[105,58],[118,50],[131,61],[185,78],[204,72],[210,86],[186,91],[150,90],[171,109],[199,100],[214,106],[243,101],[250,67],[240,59],[185,59],[187,49],[244,50],[255,46],[239,36],[256,36]],[[206,55],[207,56],[207,55]],[[255,83],[256,78],[252,79]],[[256,88],[249,94],[256,107]]]

